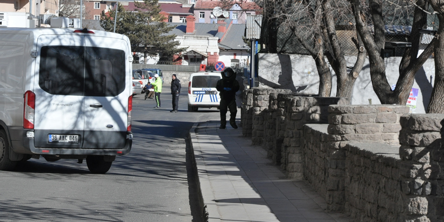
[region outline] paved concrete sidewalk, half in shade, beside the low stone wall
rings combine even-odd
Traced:
[[[218,127],[210,121],[190,131],[208,221],[352,221],[326,213],[307,182],[287,180],[241,127]]]

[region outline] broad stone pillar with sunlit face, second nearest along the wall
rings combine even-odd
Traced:
[[[346,150],[350,141],[399,144],[399,119],[405,105],[330,105],[328,107],[326,201],[329,210],[344,209]],[[397,149],[397,147],[394,147]]]

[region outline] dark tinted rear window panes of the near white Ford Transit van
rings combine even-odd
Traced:
[[[39,86],[58,95],[119,95],[125,89],[125,52],[99,47],[43,46]]]

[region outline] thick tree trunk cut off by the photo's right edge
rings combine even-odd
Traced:
[[[434,8],[434,7],[433,7]],[[427,107],[428,114],[444,114],[444,15],[438,14],[439,28],[438,39],[435,43],[435,82],[433,83],[430,103]]]

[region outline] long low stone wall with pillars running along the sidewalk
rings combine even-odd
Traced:
[[[355,221],[444,221],[444,115],[346,103],[253,89],[242,121],[251,118],[252,142],[289,178],[308,180],[331,211]]]

